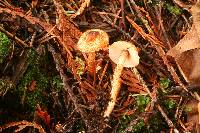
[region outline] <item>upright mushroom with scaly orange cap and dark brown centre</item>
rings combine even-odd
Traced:
[[[81,35],[77,48],[81,52],[88,54],[87,65],[91,76],[95,72],[95,52],[108,47],[108,44],[108,34],[103,30],[91,29]]]

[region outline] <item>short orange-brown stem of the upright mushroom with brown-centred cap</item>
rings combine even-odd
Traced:
[[[89,75],[90,76],[94,76],[94,72],[96,72],[95,70],[95,52],[90,52],[88,54],[88,71],[89,71]]]

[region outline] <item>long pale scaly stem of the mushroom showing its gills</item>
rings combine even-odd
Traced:
[[[121,86],[120,76],[121,76],[121,73],[122,73],[122,70],[123,70],[123,67],[124,67],[124,62],[125,62],[127,56],[128,56],[128,51],[124,50],[121,53],[121,56],[119,57],[119,61],[117,63],[117,66],[114,70],[113,81],[112,81],[112,90],[110,92],[110,95],[111,95],[110,101],[108,103],[106,111],[104,112],[104,117],[109,117],[112,110],[114,109],[116,99],[117,99],[117,95],[119,93],[119,89],[120,89],[120,86]]]

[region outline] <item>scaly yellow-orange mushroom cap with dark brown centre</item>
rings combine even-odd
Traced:
[[[90,53],[108,47],[108,34],[100,29],[91,29],[84,32],[78,43],[77,48],[81,52]]]

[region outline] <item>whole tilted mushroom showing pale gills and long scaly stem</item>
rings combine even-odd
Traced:
[[[109,101],[107,109],[104,112],[104,117],[109,117],[115,106],[117,95],[121,86],[120,75],[123,67],[135,67],[139,64],[140,59],[137,48],[132,43],[126,41],[117,41],[109,46],[109,57],[114,63],[117,64],[117,66],[114,70],[113,80],[111,83],[111,100]]]

